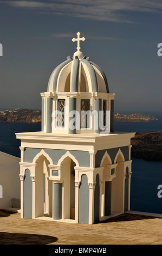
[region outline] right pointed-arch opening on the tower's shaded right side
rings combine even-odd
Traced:
[[[124,165],[123,156],[118,154],[116,159],[115,178],[112,180],[112,215],[124,212]]]

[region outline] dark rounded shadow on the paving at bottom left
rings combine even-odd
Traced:
[[[54,236],[0,232],[1,245],[49,245],[57,241]]]

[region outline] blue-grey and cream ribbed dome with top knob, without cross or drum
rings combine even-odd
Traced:
[[[47,92],[109,93],[109,89],[103,70],[81,51],[76,51],[73,58],[68,56],[52,72]]]

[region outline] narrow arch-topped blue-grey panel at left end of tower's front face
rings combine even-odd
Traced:
[[[32,218],[32,181],[30,170],[25,170],[24,177],[24,218]]]

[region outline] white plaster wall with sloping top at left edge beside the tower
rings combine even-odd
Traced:
[[[11,207],[11,199],[20,199],[20,159],[0,151],[0,209]]]

